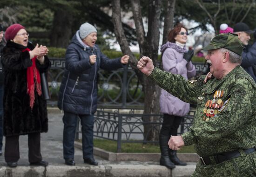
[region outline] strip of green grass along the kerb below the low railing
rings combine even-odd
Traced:
[[[81,142],[81,140],[79,140]],[[117,142],[107,139],[94,139],[94,146],[109,152],[117,152]],[[127,153],[160,153],[159,145],[142,143],[122,143],[121,152]],[[195,153],[193,145],[184,146],[178,153]]]

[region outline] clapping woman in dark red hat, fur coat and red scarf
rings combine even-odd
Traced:
[[[28,135],[30,165],[47,166],[40,153],[40,133],[47,132],[47,104],[42,98],[40,73],[50,67],[46,46],[28,42],[24,26],[13,24],[5,33],[6,46],[1,53],[4,67],[5,160],[16,167],[20,158],[19,136]]]

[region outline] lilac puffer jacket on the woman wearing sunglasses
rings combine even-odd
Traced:
[[[187,52],[185,46],[182,49],[175,43],[167,42],[162,45],[161,51],[164,51],[162,63],[165,71],[182,75],[186,79],[195,76],[195,66],[183,58],[183,53]],[[189,113],[189,103],[181,101],[164,89],[161,90],[160,108],[163,114],[184,116]]]

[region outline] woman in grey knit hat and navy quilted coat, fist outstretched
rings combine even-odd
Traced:
[[[77,118],[82,125],[84,163],[98,165],[93,157],[94,113],[97,108],[97,72],[116,70],[128,63],[129,56],[110,60],[96,45],[97,30],[80,26],[66,51],[66,67],[61,82],[58,107],[64,111],[63,156],[65,164],[75,165],[74,137]]]

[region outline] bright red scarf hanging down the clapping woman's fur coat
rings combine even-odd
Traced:
[[[26,48],[22,52],[24,51],[30,51],[30,50]],[[40,73],[35,65],[36,56],[31,60],[32,60],[32,66],[27,67],[27,94],[29,95],[29,106],[32,109],[34,107],[34,99],[35,99],[34,86],[36,86],[36,91],[39,96],[42,95],[42,90],[41,90]],[[35,79],[35,83],[34,83],[34,79]]]

